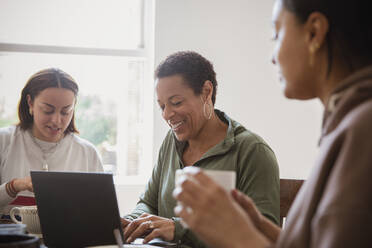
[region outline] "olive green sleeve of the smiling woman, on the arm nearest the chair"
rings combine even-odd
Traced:
[[[237,188],[252,198],[264,216],[279,224],[280,179],[274,152],[262,142],[242,145],[238,167]]]

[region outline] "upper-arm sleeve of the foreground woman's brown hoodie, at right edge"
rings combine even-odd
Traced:
[[[355,118],[328,152],[334,165],[311,223],[309,247],[372,247],[371,113],[370,107]]]

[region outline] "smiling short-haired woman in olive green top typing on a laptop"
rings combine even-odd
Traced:
[[[168,56],[156,70],[158,104],[169,130],[146,190],[122,219],[127,242],[145,235],[191,247],[205,247],[175,217],[175,172],[185,166],[236,171],[236,188],[261,213],[279,223],[279,170],[271,148],[225,113],[214,109],[216,73],[195,52]],[[218,218],[218,216],[216,216]]]

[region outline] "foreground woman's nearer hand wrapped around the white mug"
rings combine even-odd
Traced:
[[[181,203],[174,211],[199,238],[211,247],[234,247],[235,244],[256,242],[268,244],[229,191],[201,169],[190,167],[184,170],[187,177],[177,184],[173,192]]]

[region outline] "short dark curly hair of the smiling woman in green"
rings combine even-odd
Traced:
[[[212,103],[216,102],[217,80],[213,64],[193,51],[180,51],[169,55],[155,70],[155,78],[180,75],[193,89],[195,95],[202,93],[205,81],[213,85]]]

